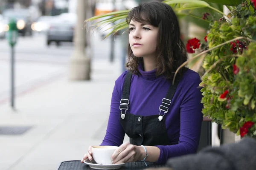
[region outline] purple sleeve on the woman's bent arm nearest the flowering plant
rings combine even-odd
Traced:
[[[203,120],[201,104],[202,94],[198,88],[201,79],[197,73],[186,77],[180,99],[180,137],[178,144],[157,146],[160,156],[157,163],[164,164],[175,156],[196,153]]]

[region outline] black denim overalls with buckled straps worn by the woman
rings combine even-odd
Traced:
[[[174,85],[171,84],[166,97],[162,99],[162,104],[159,107],[159,114],[140,116],[127,112],[130,102],[131,76],[132,73],[128,71],[123,84],[122,99],[119,107],[121,110],[119,122],[125,130],[125,133],[132,139],[132,144],[137,146],[171,145],[166,131],[166,119],[164,115],[169,110],[169,105],[171,104],[178,82],[175,82]]]

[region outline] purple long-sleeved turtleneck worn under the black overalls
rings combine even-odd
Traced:
[[[141,116],[157,115],[171,82],[163,76],[156,77],[156,70],[143,71],[140,65],[139,71],[140,75],[132,75],[131,78],[128,112]],[[125,131],[119,122],[119,105],[126,74],[127,71],[116,79],[107,132],[101,145],[120,146],[123,143]],[[160,156],[156,163],[164,164],[171,157],[196,153],[203,119],[202,94],[198,88],[200,82],[198,73],[192,70],[187,70],[180,79],[169,111],[165,114],[169,140],[177,144],[157,145]]]

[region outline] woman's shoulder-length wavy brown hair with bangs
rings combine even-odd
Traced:
[[[156,76],[164,75],[166,79],[172,79],[177,68],[187,60],[186,48],[180,40],[180,27],[175,12],[165,3],[141,3],[129,11],[126,22],[129,24],[131,20],[158,27]],[[128,45],[126,67],[134,74],[139,74],[139,63],[143,63],[143,58],[135,57]],[[183,74],[186,69],[186,67],[180,69],[178,75]]]

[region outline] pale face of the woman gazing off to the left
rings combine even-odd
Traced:
[[[136,57],[155,57],[158,28],[131,20],[129,44]]]

